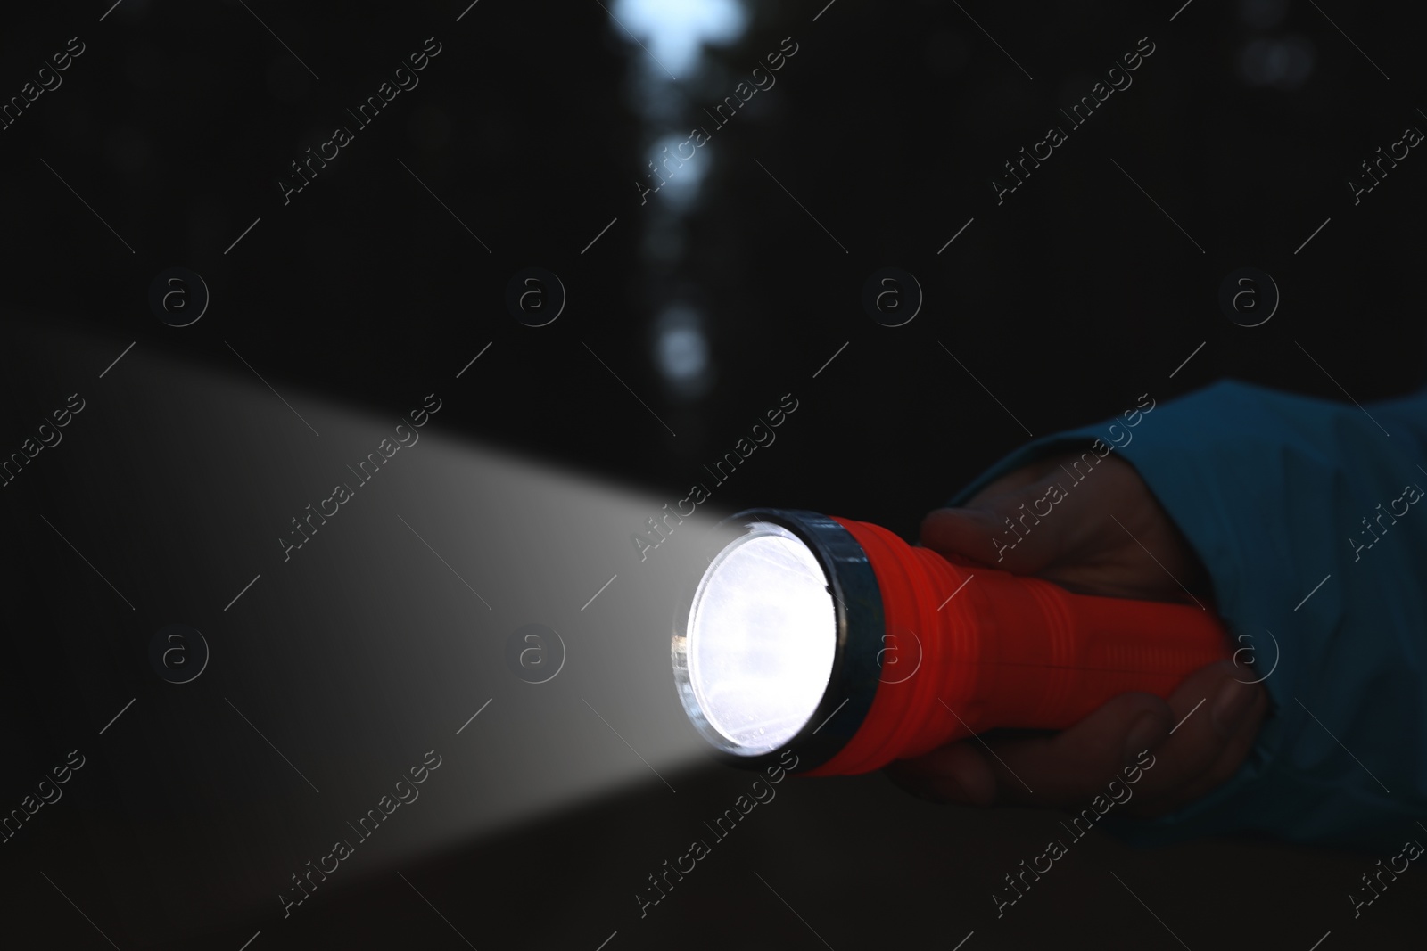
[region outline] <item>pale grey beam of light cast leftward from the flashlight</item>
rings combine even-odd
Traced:
[[[63,364],[83,364],[67,341]],[[116,342],[90,351],[97,374]],[[66,533],[138,620],[39,519],[16,516],[71,595],[51,623],[84,632],[54,701],[97,727],[134,696],[126,677],[141,686],[86,749],[116,788],[144,790],[126,818],[150,830],[131,840],[147,854],[126,861],[153,875],[116,877],[114,907],[150,908],[141,893],[157,888],[193,921],[281,918],[274,898],[337,840],[354,855],[321,888],[639,784],[678,788],[681,770],[708,763],[669,636],[681,583],[705,567],[699,535],[723,513],[681,518],[685,490],[654,496],[461,438],[451,408],[469,408],[481,364],[457,382],[455,361],[385,411],[283,381],[315,439],[245,368],[220,376],[156,354],[136,348],[103,389],[90,384],[70,438],[21,476],[63,495]],[[635,533],[658,548],[641,559]],[[193,683],[147,670],[141,649],[166,623],[211,646]],[[118,654],[134,669],[117,672]],[[441,764],[418,796],[358,838],[428,751]],[[134,927],[157,925],[140,914]]]

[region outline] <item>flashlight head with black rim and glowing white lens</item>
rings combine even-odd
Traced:
[[[862,546],[813,512],[725,519],[674,624],[679,700],[726,761],[832,759],[872,706],[882,596]]]

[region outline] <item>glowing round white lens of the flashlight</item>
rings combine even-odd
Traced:
[[[792,532],[748,525],[709,565],[688,623],[699,711],[743,756],[776,750],[828,689],[838,619],[828,576]]]

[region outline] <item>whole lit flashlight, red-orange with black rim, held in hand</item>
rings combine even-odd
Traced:
[[[748,768],[793,750],[799,773],[868,773],[995,727],[1060,730],[1229,657],[1206,610],[1075,595],[868,522],[749,509],[708,556],[674,679],[698,733]]]

